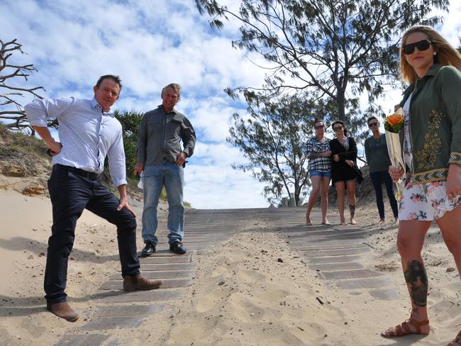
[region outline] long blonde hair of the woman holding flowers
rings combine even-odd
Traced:
[[[400,44],[400,78],[410,84],[416,81],[418,76],[416,75],[413,67],[410,66],[409,62],[405,59],[404,45],[406,45],[406,39],[412,33],[423,33],[431,41],[432,48],[437,54],[434,56],[434,63],[440,65],[450,65],[456,67],[461,71],[461,55],[455,50],[455,48],[448,43],[445,38],[435,31],[430,26],[412,26],[409,30],[406,30],[404,36],[401,38]]]

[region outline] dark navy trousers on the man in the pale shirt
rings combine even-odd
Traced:
[[[126,208],[116,210],[119,201],[101,183],[101,177],[92,180],[55,164],[48,180],[48,191],[53,220],[44,282],[48,302],[61,303],[67,299],[67,261],[74,245],[77,219],[85,208],[117,226],[122,276],[140,273],[136,253],[136,219]]]

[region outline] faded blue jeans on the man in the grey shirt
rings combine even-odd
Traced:
[[[182,189],[184,186],[184,168],[177,164],[165,162],[160,166],[144,167],[144,209],[143,209],[143,240],[157,245],[157,206],[165,185],[168,199],[168,242],[180,242],[184,237],[184,204]]]

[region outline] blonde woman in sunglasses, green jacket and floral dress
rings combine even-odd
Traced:
[[[409,320],[383,337],[430,332],[428,277],[421,250],[433,221],[461,272],[461,55],[428,26],[404,33],[401,77],[410,86],[404,109],[405,189],[399,206],[397,247],[411,299]],[[394,181],[404,169],[389,167]],[[461,332],[446,346],[461,346]]]

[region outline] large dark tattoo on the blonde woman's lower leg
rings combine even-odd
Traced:
[[[423,263],[408,262],[404,273],[406,284],[410,285],[410,296],[416,306],[426,306],[428,300],[428,277]]]

